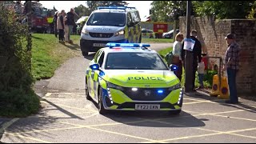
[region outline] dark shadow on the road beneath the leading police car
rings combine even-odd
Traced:
[[[92,100],[94,106],[98,104]],[[198,119],[193,115],[182,111],[180,114],[170,114],[168,111],[119,111],[108,110],[104,114],[106,118],[114,122],[120,122],[130,126],[149,127],[199,127],[206,126],[202,121],[208,119]]]

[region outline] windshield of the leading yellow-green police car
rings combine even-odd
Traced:
[[[109,53],[106,70],[168,70],[165,63],[152,53]]]

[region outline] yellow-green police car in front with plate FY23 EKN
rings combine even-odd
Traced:
[[[183,92],[174,74],[149,44],[107,43],[86,69],[86,98],[107,110],[169,110],[179,114]]]

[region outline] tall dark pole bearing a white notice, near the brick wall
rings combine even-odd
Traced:
[[[191,1],[186,1],[186,38],[190,38],[190,14],[191,14]],[[185,92],[192,91],[192,61],[193,54],[189,50],[186,50],[185,55]]]

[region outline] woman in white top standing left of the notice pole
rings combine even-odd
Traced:
[[[178,66],[178,70],[174,71],[174,74],[178,77],[178,79],[181,81],[182,80],[182,40],[183,40],[183,34],[178,33],[175,36],[175,42],[173,45],[173,60],[172,64]]]

